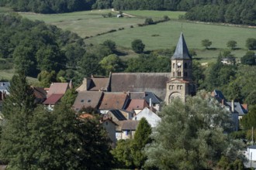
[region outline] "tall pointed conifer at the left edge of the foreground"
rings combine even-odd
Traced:
[[[24,73],[12,76],[9,93],[3,103],[5,124],[0,139],[0,154],[9,162],[9,168],[31,169],[33,151],[29,123],[36,107],[33,89],[26,82]]]

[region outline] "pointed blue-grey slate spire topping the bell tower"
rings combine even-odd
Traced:
[[[175,54],[171,57],[171,59],[192,59],[192,57],[189,55],[189,49],[185,43],[183,33],[181,33],[181,36],[179,36]]]

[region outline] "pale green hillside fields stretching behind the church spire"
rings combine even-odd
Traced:
[[[233,50],[234,56],[240,58],[246,53],[245,41],[247,38],[256,38],[256,29],[224,26],[220,24],[207,24],[201,22],[178,21],[178,15],[185,12],[159,12],[159,11],[125,11],[124,13],[134,17],[103,18],[102,14],[112,12],[108,10],[93,10],[87,12],[71,12],[64,14],[42,15],[34,13],[20,13],[28,19],[43,20],[61,29],[77,32],[85,39],[86,44],[99,44],[106,39],[112,39],[120,50],[128,53],[128,56],[137,56],[130,53],[130,46],[133,39],[142,39],[146,45],[145,50],[167,49],[176,45],[180,32],[184,33],[189,49],[195,49],[200,62],[214,61],[221,50],[227,49],[229,40],[237,41],[237,50]],[[113,15],[116,12],[112,12]],[[154,20],[161,19],[164,15],[171,18],[168,22],[157,25],[139,27],[139,23],[151,17]],[[131,28],[133,26],[133,28]],[[97,36],[102,32],[116,29],[116,32]],[[119,30],[122,29],[122,30]],[[209,39],[213,42],[212,49],[205,50],[201,45],[202,39]]]

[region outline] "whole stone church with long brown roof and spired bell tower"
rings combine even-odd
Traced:
[[[158,102],[169,104],[176,97],[185,102],[187,95],[195,95],[196,88],[192,81],[192,56],[189,55],[183,33],[170,59],[171,73],[110,73],[107,78],[85,78],[77,90],[78,92],[100,91],[103,95],[109,92],[127,93],[130,96],[134,93],[144,93],[144,96],[137,96],[148,99],[148,103],[147,95],[153,93],[150,96],[154,96],[154,100]]]

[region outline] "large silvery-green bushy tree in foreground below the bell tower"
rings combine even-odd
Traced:
[[[205,91],[186,102],[176,99],[161,111],[161,123],[145,148],[146,166],[160,169],[210,169],[221,156],[244,158],[242,142],[228,138],[233,123],[227,110]]]

